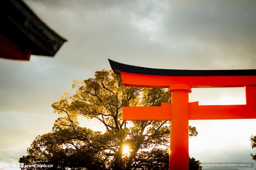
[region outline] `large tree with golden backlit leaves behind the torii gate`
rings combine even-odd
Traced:
[[[52,132],[39,135],[20,158],[24,164],[52,164],[38,169],[168,169],[170,121],[123,121],[123,106],[161,106],[170,102],[166,89],[125,87],[112,71],[74,81],[75,95],[65,93],[52,104],[59,117]],[[156,113],[157,114],[157,113]],[[104,133],[79,126],[78,116],[97,119]],[[197,136],[189,126],[189,137]],[[200,169],[189,158],[190,169]],[[24,167],[23,169],[30,169]],[[31,169],[37,169],[33,167]]]

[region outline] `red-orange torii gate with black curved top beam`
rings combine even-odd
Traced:
[[[123,120],[171,120],[169,169],[188,170],[188,120],[255,119],[256,70],[167,70],[122,64],[109,59],[112,70],[131,87],[169,88],[171,103],[123,107]],[[245,87],[246,104],[198,106],[188,102],[191,88]]]

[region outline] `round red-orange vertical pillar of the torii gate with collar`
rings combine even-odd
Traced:
[[[169,169],[188,169],[188,93],[191,86],[169,86],[172,94]]]

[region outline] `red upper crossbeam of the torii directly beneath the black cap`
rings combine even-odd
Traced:
[[[168,88],[174,84],[187,84],[192,88],[244,87],[256,84],[256,76],[156,76],[121,71],[125,86]]]

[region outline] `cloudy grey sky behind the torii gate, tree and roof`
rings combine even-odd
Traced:
[[[59,117],[51,103],[66,91],[74,94],[74,80],[110,70],[108,58],[160,69],[256,69],[254,0],[24,2],[68,42],[53,58],[0,59],[0,169],[27,155],[36,136],[51,132]],[[193,88],[189,101],[245,104],[244,88]],[[93,130],[103,127],[79,120]],[[249,141],[256,134],[256,120],[189,124],[198,131],[197,137],[189,139],[191,157],[201,162],[254,162],[256,167],[250,156],[256,149]]]

